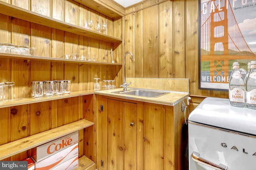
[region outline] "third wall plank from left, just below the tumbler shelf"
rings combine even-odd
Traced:
[[[29,136],[51,129],[50,101],[29,104]]]

